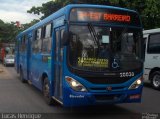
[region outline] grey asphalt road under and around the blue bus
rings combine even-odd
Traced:
[[[14,67],[5,68],[0,65],[0,68],[3,69],[0,72],[0,113],[52,113],[56,117],[63,115],[63,118],[98,119],[135,119],[142,118],[144,114],[156,116],[160,113],[160,91],[152,89],[148,84],[143,89],[142,103],[63,108],[58,104],[48,106],[38,89],[21,83]]]

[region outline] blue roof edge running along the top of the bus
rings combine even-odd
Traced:
[[[101,8],[101,9],[116,9],[116,10],[122,10],[122,11],[129,11],[137,13],[134,10],[126,9],[126,8],[120,8],[120,7],[114,7],[114,6],[107,6],[107,5],[91,5],[91,4],[69,4],[61,9],[59,9],[57,12],[51,14],[50,16],[46,17],[45,19],[41,20],[40,22],[36,23],[35,25],[31,26],[30,28],[26,29],[25,31],[21,32],[19,35],[29,32],[35,28],[38,28],[44,24],[47,24],[49,21],[56,19],[62,15],[65,15],[70,12],[72,8]],[[69,14],[67,14],[69,16]],[[68,17],[67,16],[67,17]],[[18,36],[19,36],[18,35]],[[18,37],[17,36],[17,37]]]

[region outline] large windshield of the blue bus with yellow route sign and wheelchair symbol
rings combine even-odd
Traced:
[[[69,64],[79,70],[135,70],[141,67],[141,32],[131,28],[71,25]]]

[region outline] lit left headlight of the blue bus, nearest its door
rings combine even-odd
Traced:
[[[82,91],[82,92],[86,92],[87,89],[78,81],[76,81],[75,79],[66,76],[65,80],[67,81],[67,83],[70,85],[70,87],[75,90],[75,91]]]

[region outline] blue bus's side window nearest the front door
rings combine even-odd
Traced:
[[[52,24],[47,24],[44,27],[44,39],[42,45],[42,52],[43,53],[50,53],[51,52],[51,36],[52,36]]]

